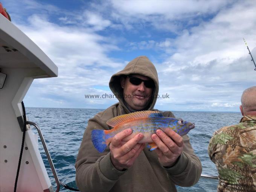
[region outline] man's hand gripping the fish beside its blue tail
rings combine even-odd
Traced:
[[[132,132],[131,129],[126,129],[117,133],[109,146],[111,161],[114,167],[120,171],[130,168],[145,147],[145,143],[138,143],[144,137],[141,133],[137,134],[128,142],[122,141],[122,139],[129,136]]]

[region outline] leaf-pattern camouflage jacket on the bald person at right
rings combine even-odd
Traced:
[[[256,116],[216,131],[208,153],[219,172],[218,192],[256,192]]]

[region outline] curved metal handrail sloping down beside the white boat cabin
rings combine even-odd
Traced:
[[[56,173],[55,167],[54,167],[54,165],[53,165],[52,157],[51,157],[51,155],[50,155],[50,153],[49,153],[49,151],[48,151],[48,148],[47,148],[47,146],[46,146],[46,142],[45,142],[45,140],[44,140],[44,136],[43,136],[43,134],[41,133],[41,130],[40,130],[39,126],[37,125],[37,123],[31,122],[31,121],[27,121],[27,124],[33,125],[33,126],[37,129],[37,131],[38,131],[39,137],[40,137],[41,142],[42,142],[43,147],[44,147],[44,151],[45,151],[45,153],[46,153],[47,159],[48,159],[49,164],[50,164],[50,167],[51,167],[51,169],[52,169],[53,176],[54,176],[55,181],[56,181],[56,184],[57,184],[57,189],[56,189],[55,192],[59,192],[59,189],[60,189],[59,178],[58,178],[58,175],[57,175],[57,173]]]

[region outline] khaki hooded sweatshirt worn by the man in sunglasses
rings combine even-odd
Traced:
[[[131,168],[119,171],[111,163],[108,146],[102,153],[94,148],[91,142],[93,129],[110,130],[111,127],[106,124],[107,120],[131,113],[123,100],[123,89],[120,85],[120,76],[130,74],[144,75],[155,82],[154,97],[145,109],[154,110],[159,89],[157,71],[146,56],[140,56],[110,79],[110,89],[119,102],[88,121],[75,164],[78,188],[81,192],[172,192],[177,191],[175,185],[186,187],[194,185],[200,178],[202,166],[187,135],[183,136],[183,152],[171,168],[161,166],[157,154],[145,148]],[[162,114],[165,117],[174,117],[170,111]]]

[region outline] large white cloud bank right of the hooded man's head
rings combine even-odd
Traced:
[[[177,110],[239,110],[242,91],[255,85],[253,62],[242,41],[243,35],[247,34],[247,41],[256,45],[251,32],[256,30],[255,9],[256,5],[250,1],[236,3],[220,11],[209,22],[184,30],[172,39],[170,46],[175,47],[175,52],[168,57],[168,47],[165,47],[167,58],[157,65],[160,88],[172,95],[172,100],[165,103],[177,104],[174,107]],[[250,24],[241,24],[243,20]],[[252,55],[256,55],[254,47],[251,46]],[[166,89],[170,86],[175,90]],[[193,105],[193,101],[198,104]]]

